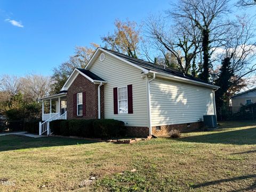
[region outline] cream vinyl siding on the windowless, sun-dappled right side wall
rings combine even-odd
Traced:
[[[193,123],[214,115],[212,89],[156,78],[150,83],[152,126]]]

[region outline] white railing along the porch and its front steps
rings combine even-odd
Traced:
[[[47,135],[50,135],[50,122],[57,120],[57,119],[67,119],[67,111],[60,115],[60,113],[57,114],[44,114],[44,115],[50,115],[50,118],[48,118],[45,122],[39,122],[39,135],[42,135],[47,131]]]

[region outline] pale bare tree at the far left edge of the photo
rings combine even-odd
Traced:
[[[17,76],[3,75],[0,78],[0,91],[3,91],[12,98],[21,89],[20,78]]]

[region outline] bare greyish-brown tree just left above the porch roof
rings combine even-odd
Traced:
[[[39,98],[49,95],[51,84],[52,80],[49,76],[29,74],[21,77],[21,92],[26,101],[38,101]]]

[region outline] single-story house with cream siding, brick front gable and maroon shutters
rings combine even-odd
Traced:
[[[99,47],[58,94],[42,98],[56,106],[44,114],[43,104],[42,118],[46,122],[113,118],[123,121],[130,135],[165,135],[173,128],[194,130],[203,115],[216,115],[217,89],[180,71]]]

